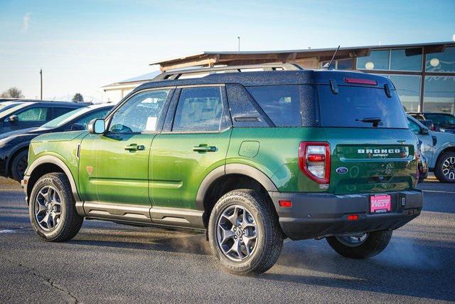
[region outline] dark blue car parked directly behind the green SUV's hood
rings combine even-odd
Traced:
[[[41,134],[87,130],[90,120],[105,117],[113,105],[89,105],[78,108],[42,125],[0,135],[0,175],[20,182],[27,167],[28,145]]]

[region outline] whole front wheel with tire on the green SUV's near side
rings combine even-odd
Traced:
[[[77,214],[70,182],[63,173],[48,173],[33,186],[28,214],[36,234],[45,241],[68,241],[84,218]]]

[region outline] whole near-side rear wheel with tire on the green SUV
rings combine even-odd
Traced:
[[[284,238],[272,203],[250,189],[228,192],[218,200],[210,214],[208,235],[215,257],[238,275],[272,268]]]

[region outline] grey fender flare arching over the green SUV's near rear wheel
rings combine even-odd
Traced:
[[[204,211],[204,197],[207,193],[210,185],[215,182],[216,179],[223,177],[229,174],[242,174],[247,177],[255,179],[259,184],[262,184],[262,187],[267,190],[267,192],[277,192],[277,186],[272,182],[272,179],[267,177],[264,172],[261,170],[249,166],[247,164],[226,164],[220,167],[213,169],[200,183],[198,194],[196,194],[196,209]]]

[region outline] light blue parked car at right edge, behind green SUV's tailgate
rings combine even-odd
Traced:
[[[428,159],[429,171],[440,182],[455,182],[455,134],[434,132],[408,115],[410,130],[422,141],[422,152]]]

